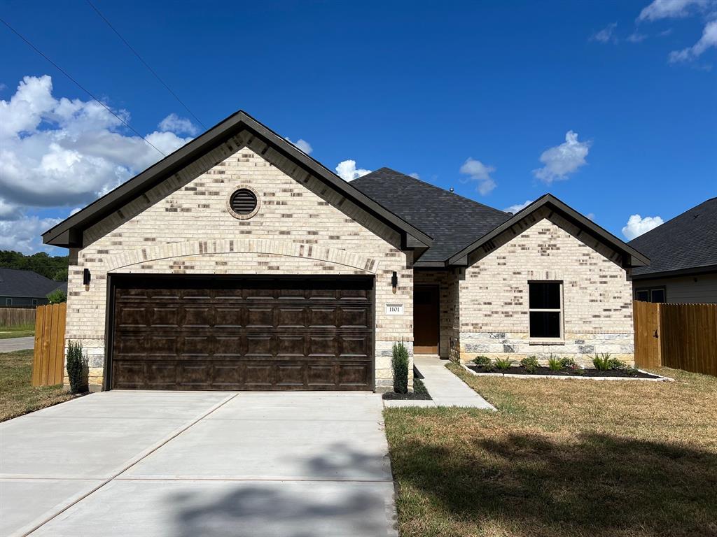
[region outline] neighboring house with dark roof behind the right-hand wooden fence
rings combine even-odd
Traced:
[[[650,258],[632,271],[635,299],[717,303],[717,198],[675,216],[630,241]]]

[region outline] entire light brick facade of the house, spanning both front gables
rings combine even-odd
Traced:
[[[227,207],[241,187],[259,200],[251,218]],[[373,276],[376,391],[391,389],[394,342],[406,342],[412,356],[414,284],[440,288],[442,357],[559,354],[583,364],[602,352],[633,358],[632,288],[622,254],[558,213],[528,214],[470,253],[466,267],[414,274],[398,231],[247,131],[83,233],[85,246],[70,251],[65,336],[87,349],[95,388],[105,377],[109,274]],[[83,269],[92,274],[89,286]],[[529,337],[531,280],[563,284],[560,342]],[[386,314],[386,304],[402,304],[402,314]]]

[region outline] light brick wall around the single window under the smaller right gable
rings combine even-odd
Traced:
[[[478,354],[516,360],[568,355],[592,367],[596,353],[632,363],[632,284],[607,250],[549,211],[539,211],[517,236],[469,258],[460,278],[460,359]],[[578,238],[581,237],[581,238]],[[532,342],[528,281],[563,282],[564,338]]]

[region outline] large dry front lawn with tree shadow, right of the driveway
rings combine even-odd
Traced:
[[[404,537],[717,535],[717,378],[461,377],[498,412],[387,408]]]

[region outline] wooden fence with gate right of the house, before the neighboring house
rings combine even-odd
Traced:
[[[717,377],[717,304],[635,301],[635,364]]]

